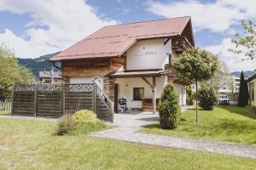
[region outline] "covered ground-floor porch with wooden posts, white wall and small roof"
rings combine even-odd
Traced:
[[[171,81],[171,72],[163,70],[119,71],[110,74],[109,79],[112,80],[110,82],[113,82],[114,111],[118,112],[120,109],[118,100],[125,98],[129,111],[152,111],[155,113],[160,103],[160,94],[166,83]],[[175,80],[177,81],[177,79]],[[172,82],[180,96],[180,105],[185,105],[185,86],[177,84],[175,81]]]

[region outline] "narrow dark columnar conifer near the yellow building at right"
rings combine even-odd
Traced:
[[[240,87],[239,87],[239,95],[238,95],[238,106],[244,107],[248,105],[248,100],[249,100],[248,85],[247,85],[247,81],[244,79],[243,71],[241,71]]]

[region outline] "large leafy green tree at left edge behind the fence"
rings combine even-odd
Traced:
[[[32,72],[19,65],[14,52],[4,44],[0,44],[0,99],[8,96],[12,84],[34,81]]]

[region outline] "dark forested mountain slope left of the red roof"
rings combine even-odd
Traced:
[[[35,59],[18,58],[18,61],[20,65],[23,65],[26,68],[30,69],[36,77],[39,77],[39,71],[49,70],[53,67],[52,63],[49,62],[49,59],[55,54],[59,53],[60,52],[56,52],[54,54],[46,54]]]

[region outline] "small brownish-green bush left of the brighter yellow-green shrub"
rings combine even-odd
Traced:
[[[56,130],[57,135],[65,135],[68,132],[72,131],[76,126],[76,123],[73,121],[72,117],[69,115],[61,116],[58,121],[58,128]]]

